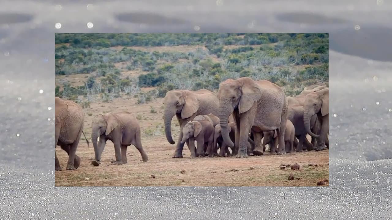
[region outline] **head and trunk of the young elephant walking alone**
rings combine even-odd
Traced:
[[[109,135],[118,125],[118,119],[113,113],[100,114],[93,118],[91,123],[91,142],[93,142],[95,160],[97,162],[100,161],[103,148],[105,148],[104,143],[103,145],[99,144],[100,147],[98,147],[97,139],[101,143],[104,140],[100,140],[99,137]]]

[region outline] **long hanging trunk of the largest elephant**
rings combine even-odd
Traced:
[[[221,126],[221,133],[223,141],[230,147],[234,147],[234,143],[230,139],[229,135],[229,116],[232,113],[232,106],[230,100],[221,99],[219,100],[219,122]]]

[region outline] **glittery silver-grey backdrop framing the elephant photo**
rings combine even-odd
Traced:
[[[391,218],[391,9],[388,0],[2,0],[0,216]],[[60,32],[330,33],[330,186],[55,188],[54,33]]]

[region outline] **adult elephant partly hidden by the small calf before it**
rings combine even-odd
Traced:
[[[181,144],[183,127],[188,120],[192,121],[196,115],[218,115],[218,97],[215,93],[207,89],[200,89],[196,92],[189,90],[171,90],[166,93],[163,103],[165,105],[163,119],[165,122],[166,139],[171,144],[176,143],[173,141],[171,134],[171,121],[174,115],[176,115],[178,123],[180,124],[180,133],[178,134],[176,151],[174,151],[173,157],[182,157],[182,150],[184,147],[184,144]],[[186,143],[189,146],[189,141],[186,141]]]

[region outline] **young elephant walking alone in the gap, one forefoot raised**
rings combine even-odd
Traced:
[[[148,157],[142,147],[140,126],[138,120],[131,113],[109,112],[96,115],[91,123],[91,130],[91,142],[93,142],[95,152],[95,160],[91,164],[94,166],[99,166],[107,140],[114,144],[116,156],[114,164],[127,163],[127,147],[131,144],[138,149],[142,160],[147,162]]]

